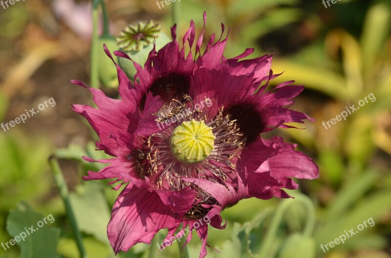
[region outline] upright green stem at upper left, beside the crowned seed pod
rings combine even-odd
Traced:
[[[98,7],[99,4],[92,5],[92,40],[91,40],[91,58],[90,58],[90,73],[89,73],[89,83],[92,88],[99,87]]]

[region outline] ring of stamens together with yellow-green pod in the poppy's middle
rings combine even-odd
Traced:
[[[192,209],[186,213],[189,219],[202,218],[209,209],[202,205],[217,204],[217,200],[191,182],[182,178],[203,178],[225,185],[227,174],[232,173],[239,156],[243,134],[237,121],[221,108],[214,118],[207,118],[204,110],[195,110],[189,96],[172,99],[155,114],[157,122],[176,117],[176,122],[150,137],[151,167],[157,173],[151,179],[157,189],[172,191],[185,187],[195,189],[197,198]]]

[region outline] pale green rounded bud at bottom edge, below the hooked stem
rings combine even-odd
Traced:
[[[283,244],[278,258],[315,258],[315,241],[294,233]]]

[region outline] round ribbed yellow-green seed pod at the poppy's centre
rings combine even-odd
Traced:
[[[185,121],[177,126],[171,135],[171,152],[181,162],[196,163],[212,153],[215,139],[212,128],[204,121]]]

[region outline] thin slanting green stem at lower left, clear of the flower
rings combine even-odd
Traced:
[[[70,226],[72,228],[73,234],[75,236],[76,244],[79,249],[80,257],[86,258],[86,251],[84,250],[82,234],[79,231],[77,226],[76,218],[72,210],[72,205],[69,199],[68,187],[64,179],[63,171],[61,170],[60,164],[54,156],[49,158],[49,165],[53,171],[54,180],[57,184],[57,187],[60,191],[60,196],[64,201],[66,215],[68,217]]]

